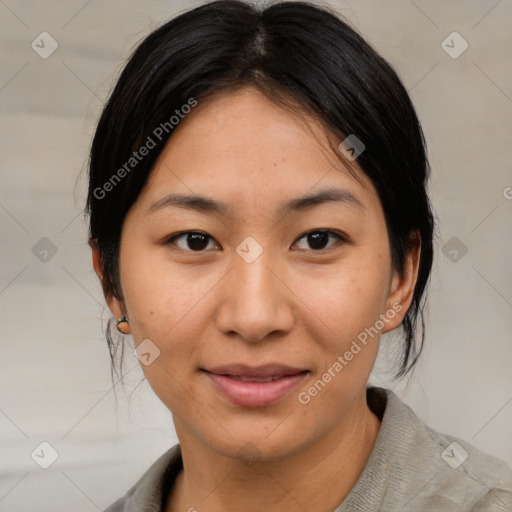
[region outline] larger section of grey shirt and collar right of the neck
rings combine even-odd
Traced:
[[[373,488],[381,487],[379,510],[397,510],[401,504],[418,512],[512,511],[508,464],[430,428],[391,390],[369,392],[375,403],[385,402],[379,436],[363,473],[367,485],[371,480]]]

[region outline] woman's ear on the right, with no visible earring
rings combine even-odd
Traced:
[[[414,297],[414,288],[418,279],[418,269],[421,253],[421,235],[419,231],[411,234],[409,244],[406,247],[404,271],[399,274],[397,271],[391,280],[389,296],[386,303],[386,311],[393,312],[387,314],[389,321],[385,322],[382,332],[389,332],[396,329],[404,319],[412,299]]]

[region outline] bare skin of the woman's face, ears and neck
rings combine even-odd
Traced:
[[[116,318],[128,316],[136,345],[150,339],[160,350],[141,367],[173,414],[184,461],[166,511],[327,512],[361,474],[380,425],[365,393],[380,335],[308,404],[298,401],[359,333],[399,305],[382,332],[393,330],[412,300],[419,247],[398,275],[380,200],[356,163],[358,179],[315,119],[249,86],[204,100],[181,122],[129,211],[124,301],[108,290],[106,300]],[[360,206],[277,213],[287,199],[327,186],[349,191]],[[230,209],[150,211],[170,193],[208,196]],[[325,248],[311,248],[305,236],[318,229],[334,232]],[[168,241],[186,231],[211,238],[199,251],[186,236]],[[248,236],[263,249],[252,263],[236,252]],[[95,249],[93,262],[104,282]],[[232,404],[200,370],[269,362],[309,373],[266,407]]]

